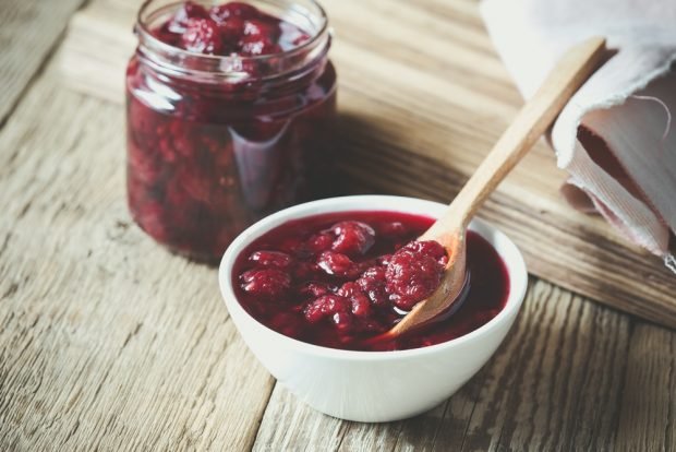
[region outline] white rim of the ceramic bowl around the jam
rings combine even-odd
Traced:
[[[393,205],[401,205],[401,209],[396,209]],[[373,212],[402,212],[411,213],[413,210],[411,206],[415,204],[420,209],[414,212],[418,214],[427,214],[434,216],[433,211],[442,212],[446,204],[435,201],[428,201],[419,198],[397,197],[387,194],[360,194],[327,198],[318,201],[311,201],[303,204],[298,204],[282,211],[268,215],[258,222],[254,223],[242,231],[225,251],[218,269],[218,282],[220,293],[228,309],[228,314],[232,318],[236,328],[239,330],[236,317],[243,319],[243,321],[251,322],[256,329],[263,330],[266,334],[273,334],[275,340],[287,343],[290,347],[298,349],[299,352],[307,355],[318,355],[324,358],[337,358],[343,360],[391,360],[406,357],[426,356],[436,354],[443,350],[456,348],[473,342],[481,336],[485,336],[493,332],[502,323],[508,322],[512,316],[516,316],[521,307],[526,292],[528,289],[528,271],[526,269],[526,262],[518,247],[507,237],[504,233],[497,229],[495,226],[482,221],[480,218],[473,218],[470,223],[470,230],[479,233],[485,240],[487,240],[494,248],[499,241],[504,247],[509,249],[508,251],[500,252],[496,249],[505,266],[507,267],[507,274],[509,275],[509,295],[505,307],[491,319],[474,331],[471,331],[460,337],[452,338],[439,344],[430,345],[419,348],[410,348],[403,350],[385,350],[385,352],[365,352],[365,350],[346,350],[340,348],[330,348],[322,345],[315,345],[307,342],[299,341],[293,337],[283,335],[253,318],[237,299],[234,290],[232,288],[231,272],[237,257],[240,252],[249,246],[254,239],[261,235],[267,233],[274,227],[280,224],[291,221],[300,219],[307,216],[321,215],[329,212],[350,212],[350,211],[373,211]],[[374,207],[377,206],[377,207]],[[340,206],[346,209],[340,209]],[[327,209],[331,207],[331,209]],[[506,254],[509,254],[506,255]]]

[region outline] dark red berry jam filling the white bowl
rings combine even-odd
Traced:
[[[438,286],[448,257],[437,242],[415,240],[432,223],[395,212],[289,222],[238,257],[236,294],[266,326],[331,348],[408,349],[459,337],[497,316],[509,294],[502,259],[472,231],[467,237],[471,284],[461,307],[398,340],[373,340]]]

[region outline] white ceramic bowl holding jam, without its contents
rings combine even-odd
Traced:
[[[334,198],[278,212],[244,230],[226,251],[219,282],[226,306],[244,342],[263,366],[313,408],[359,421],[402,419],[433,408],[468,381],[493,355],[514,323],[526,295],[523,258],[504,234],[474,219],[470,228],[493,245],[507,265],[509,298],[488,323],[442,344],[400,352],[349,352],[300,342],[253,319],[232,290],[232,265],[254,239],[290,219],[346,211],[394,211],[438,216],[444,204],[412,198]]]

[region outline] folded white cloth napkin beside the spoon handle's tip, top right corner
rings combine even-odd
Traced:
[[[562,191],[676,273],[676,2],[483,0],[481,12],[527,98],[571,45],[602,35],[616,50],[554,124],[558,166],[570,174]]]

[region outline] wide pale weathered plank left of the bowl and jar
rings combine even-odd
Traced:
[[[248,450],[273,379],[133,225],[123,130],[48,70],[0,132],[0,450]]]

